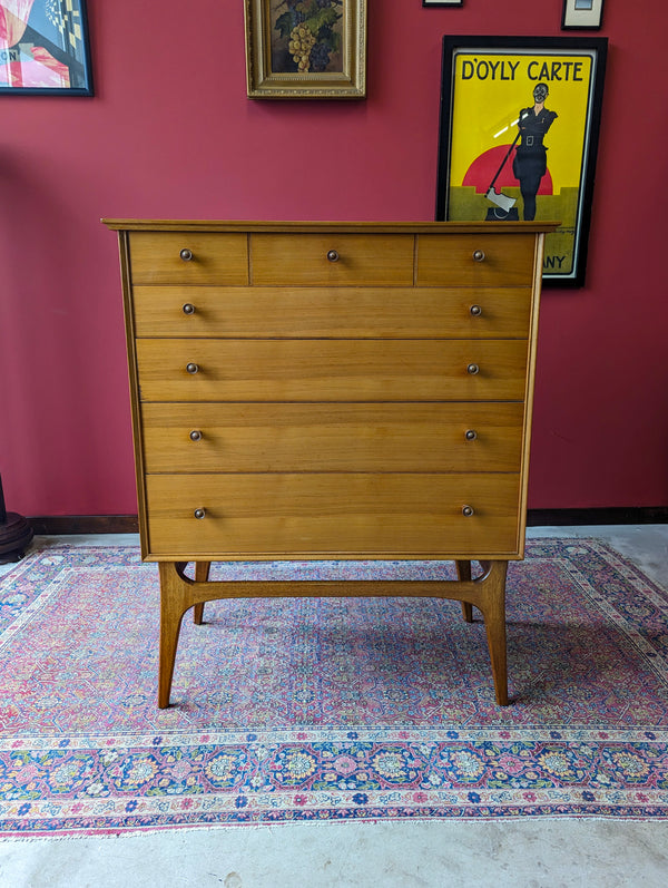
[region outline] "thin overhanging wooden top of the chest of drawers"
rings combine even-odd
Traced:
[[[353,234],[519,234],[549,233],[560,222],[244,222],[222,219],[102,218],[112,231],[154,232],[350,232]]]

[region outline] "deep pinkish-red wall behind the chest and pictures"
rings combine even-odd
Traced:
[[[369,0],[367,99],[283,104],[246,98],[240,0],[88,8],[96,97],[0,96],[0,471],[24,515],[136,511],[101,216],[433,218],[442,36],[564,36],[561,0]],[[533,508],[668,505],[667,25],[662,0],[606,4],[588,280],[543,296]]]

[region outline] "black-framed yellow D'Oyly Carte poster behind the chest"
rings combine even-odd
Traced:
[[[436,219],[559,221],[543,282],[582,286],[608,41],[444,37]]]

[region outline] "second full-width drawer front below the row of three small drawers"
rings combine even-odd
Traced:
[[[144,401],[520,401],[525,363],[527,340],[137,340]]]

